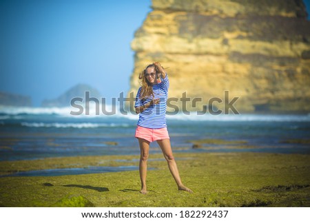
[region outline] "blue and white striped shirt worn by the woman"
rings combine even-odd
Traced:
[[[166,74],[165,78],[161,78],[161,83],[153,85],[154,98],[159,98],[160,102],[157,105],[151,105],[147,107],[143,112],[140,113],[137,125],[141,127],[147,127],[151,129],[159,129],[167,127],[166,123],[166,109],[167,109],[167,98],[168,98],[169,79]],[[141,107],[152,98],[140,98],[141,87],[136,94],[136,103],[134,107]]]

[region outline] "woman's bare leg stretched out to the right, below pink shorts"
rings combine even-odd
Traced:
[[[163,155],[165,156],[165,159],[167,160],[169,170],[172,173],[174,180],[176,181],[176,185],[178,185],[178,190],[184,190],[184,191],[188,191],[189,193],[192,193],[193,191],[185,187],[182,181],[180,180],[180,175],[178,173],[178,167],[176,166],[176,160],[174,160],[174,156],[172,154],[170,140],[169,139],[157,140],[157,143],[161,147],[161,150],[163,151]]]

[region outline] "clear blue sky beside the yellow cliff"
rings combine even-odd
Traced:
[[[0,91],[31,96],[35,106],[78,83],[107,98],[126,93],[134,68],[130,43],[151,5],[151,0],[0,0]]]

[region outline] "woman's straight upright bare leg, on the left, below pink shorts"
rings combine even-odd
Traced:
[[[149,142],[142,138],[138,138],[140,145],[140,162],[139,162],[139,172],[141,179],[141,191],[140,193],[146,194],[146,175],[147,175],[147,158],[149,158]]]

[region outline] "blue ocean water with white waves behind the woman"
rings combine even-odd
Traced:
[[[136,114],[73,116],[70,107],[0,107],[0,160],[139,156]],[[310,154],[310,115],[167,115],[174,152]],[[191,140],[214,139],[193,149]],[[229,143],[227,143],[229,142]],[[152,143],[150,154],[161,153]]]

